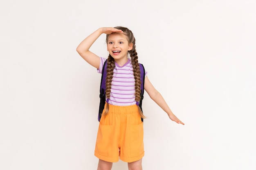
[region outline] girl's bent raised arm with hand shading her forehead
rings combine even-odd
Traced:
[[[93,67],[99,69],[100,59],[99,56],[94,54],[93,52],[89,51],[89,48],[92,46],[92,44],[96,41],[96,39],[99,38],[101,34],[111,34],[111,33],[123,33],[122,30],[112,28],[112,27],[104,27],[99,28],[94,33],[86,37],[76,48],[76,51],[87,61],[90,65]]]

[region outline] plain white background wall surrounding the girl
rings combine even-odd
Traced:
[[[126,26],[185,123],[145,94],[144,170],[255,170],[255,9],[255,0],[1,0],[0,169],[97,169],[101,75],[76,47],[99,27]],[[91,48],[102,57],[105,38]]]

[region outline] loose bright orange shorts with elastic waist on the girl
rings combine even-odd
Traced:
[[[108,162],[117,162],[119,157],[133,162],[144,156],[143,122],[137,105],[109,104],[108,114],[99,122],[94,155]]]

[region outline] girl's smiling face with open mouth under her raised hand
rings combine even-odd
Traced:
[[[132,49],[126,35],[123,33],[112,33],[108,36],[108,52],[116,60],[127,59],[128,51]]]

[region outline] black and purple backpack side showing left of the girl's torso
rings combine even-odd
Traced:
[[[99,89],[99,98],[100,98],[100,103],[99,103],[99,115],[98,115],[98,120],[101,120],[101,115],[105,106],[105,101],[106,101],[106,76],[107,76],[107,72],[106,70],[106,63],[107,60],[104,62],[103,64],[103,68],[102,68],[102,72],[101,72],[101,85],[100,85],[100,89]]]

